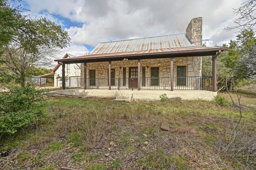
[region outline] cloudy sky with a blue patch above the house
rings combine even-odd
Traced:
[[[203,17],[207,46],[234,40],[234,8],[245,0],[23,0],[26,13],[55,21],[72,38],[65,53],[85,55],[100,42],[186,32],[190,20]]]

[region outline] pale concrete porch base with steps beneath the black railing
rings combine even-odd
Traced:
[[[52,91],[52,94],[79,95],[79,96],[97,96],[97,97],[116,97],[118,100],[131,99],[152,99],[160,100],[160,95],[166,93],[168,98],[181,97],[182,99],[205,99],[212,100],[217,92],[206,90],[108,90],[108,89],[65,89]]]

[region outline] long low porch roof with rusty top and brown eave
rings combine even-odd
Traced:
[[[79,57],[72,57],[66,59],[56,59],[54,61],[64,63],[90,63],[101,61],[120,61],[124,58],[128,60],[136,59],[156,59],[156,58],[170,58],[170,57],[196,57],[196,56],[212,56],[219,51],[224,51],[228,47],[179,47],[167,49],[154,49],[142,51],[129,51],[120,53],[105,53],[83,55]]]

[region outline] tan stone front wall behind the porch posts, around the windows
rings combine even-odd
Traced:
[[[177,66],[186,66],[187,77],[201,76],[201,65],[198,57],[177,57],[174,58],[174,77],[176,77]],[[129,67],[138,67],[138,60],[112,61],[111,69],[115,69],[115,78],[123,78],[123,68],[126,67],[126,78],[129,77]],[[150,77],[150,67],[159,67],[159,77],[167,77],[160,79],[159,86],[170,87],[170,58],[167,59],[142,59],[140,60],[140,77],[142,77],[142,67],[145,67],[146,77]],[[89,77],[89,70],[96,70],[96,78],[103,78],[103,81],[96,86],[106,87],[108,85],[108,61],[87,63],[86,77]],[[81,64],[81,77],[84,77],[84,64]],[[104,79],[105,78],[105,79]],[[167,81],[167,82],[166,82]],[[140,82],[142,83],[142,82]],[[193,82],[190,82],[193,83]],[[116,83],[117,84],[117,83]],[[127,85],[128,86],[128,83]],[[146,81],[146,86],[150,86],[150,78]],[[175,81],[174,81],[175,86]],[[165,88],[166,89],[166,88]]]

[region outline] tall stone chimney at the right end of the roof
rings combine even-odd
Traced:
[[[193,18],[186,29],[186,35],[196,46],[202,46],[202,17]]]

